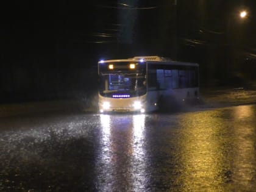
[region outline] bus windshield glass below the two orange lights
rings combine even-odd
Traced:
[[[145,75],[138,73],[102,74],[100,93],[111,97],[112,93],[116,92],[135,95],[146,93]]]

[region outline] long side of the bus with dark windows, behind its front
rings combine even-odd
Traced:
[[[199,65],[172,60],[150,61],[147,67],[148,105],[177,111],[199,101]],[[150,102],[151,101],[151,102]]]

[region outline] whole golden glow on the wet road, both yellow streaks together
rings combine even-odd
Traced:
[[[180,126],[182,191],[253,191],[255,106],[187,113]]]

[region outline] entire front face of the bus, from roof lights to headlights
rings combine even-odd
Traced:
[[[99,112],[145,112],[146,62],[106,60],[98,63]]]

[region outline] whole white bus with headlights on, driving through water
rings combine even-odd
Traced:
[[[98,62],[100,113],[154,112],[199,99],[199,65],[145,56]]]

